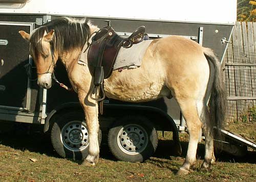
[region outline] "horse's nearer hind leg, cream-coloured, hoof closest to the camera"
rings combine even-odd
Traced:
[[[198,138],[202,126],[200,121],[197,106],[195,100],[178,100],[181,107],[182,114],[186,120],[189,142],[185,162],[182,167],[179,169],[179,175],[188,174],[191,171],[191,168],[196,164],[196,154],[197,154],[197,145]]]

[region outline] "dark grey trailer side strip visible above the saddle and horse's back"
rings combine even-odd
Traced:
[[[106,25],[105,19],[88,18],[98,27]],[[164,22],[164,21],[142,21],[142,20],[123,20],[111,19],[112,26],[117,32],[133,32],[140,25],[145,25],[148,34],[164,35],[181,35],[181,36],[198,36],[199,29],[203,27],[203,46],[215,50],[215,53],[222,58],[226,43],[222,44],[221,40],[226,37],[228,40],[232,25],[224,24],[201,24],[188,22]]]

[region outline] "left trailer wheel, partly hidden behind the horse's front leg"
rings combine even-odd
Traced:
[[[51,130],[53,148],[62,158],[85,159],[89,153],[89,133],[83,114],[70,112],[54,121]],[[101,131],[98,133],[99,145]]]

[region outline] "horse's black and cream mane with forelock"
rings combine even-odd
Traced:
[[[30,37],[30,53],[32,55],[35,57],[37,57],[37,53],[45,55],[41,40],[45,32],[49,33],[51,30],[54,30],[53,40],[50,41],[52,51],[68,51],[73,48],[82,47],[91,35],[90,26],[85,18],[62,17],[54,19],[32,32]],[[37,53],[34,50],[37,50]]]

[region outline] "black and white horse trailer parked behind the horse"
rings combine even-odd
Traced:
[[[88,153],[89,136],[77,94],[58,84],[50,90],[37,86],[29,44],[18,34],[20,30],[32,33],[60,16],[86,17],[98,27],[106,24],[104,20],[111,20],[114,29],[124,36],[144,25],[151,39],[184,36],[214,49],[222,63],[236,22],[236,3],[232,0],[160,0],[138,5],[132,0],[120,5],[115,0],[111,4],[103,1],[95,8],[94,2],[78,0],[0,0],[0,120],[44,124],[44,132],[51,132],[53,146],[61,157],[81,159]],[[127,6],[129,11],[113,5]],[[63,65],[57,64],[55,75],[70,87]],[[120,132],[128,128],[125,132],[130,139],[110,147],[116,151],[113,154],[119,160],[131,162],[150,157],[157,146],[156,131],[172,131],[178,148],[179,132],[186,131],[185,120],[173,98],[144,103],[107,98],[103,101],[99,122],[99,140],[101,133],[102,136],[108,135],[109,140],[118,140]],[[54,123],[58,127],[53,127]],[[137,132],[131,132],[129,128]],[[138,136],[138,133],[143,136]],[[134,145],[133,142],[141,143],[143,147],[132,150],[124,147]]]

